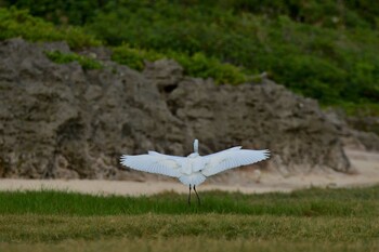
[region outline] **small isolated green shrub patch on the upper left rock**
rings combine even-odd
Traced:
[[[52,62],[55,62],[57,64],[78,62],[86,70],[103,68],[103,65],[100,62],[76,53],[62,53],[60,51],[50,51],[44,53]]]

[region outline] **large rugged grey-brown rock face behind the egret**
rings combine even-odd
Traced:
[[[104,61],[84,71],[44,50],[69,52],[65,43],[0,42],[0,177],[136,180],[119,165],[121,154],[188,155],[195,137],[202,155],[269,148],[260,165],[284,173],[350,170],[316,102],[269,80],[218,87],[172,61],[143,72]]]

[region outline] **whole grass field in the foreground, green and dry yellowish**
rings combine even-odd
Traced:
[[[0,193],[0,251],[379,250],[379,186],[200,196]]]

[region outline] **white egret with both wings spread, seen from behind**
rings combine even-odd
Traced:
[[[188,204],[191,204],[191,188],[193,187],[195,190],[198,203],[200,203],[196,186],[205,182],[208,176],[232,168],[256,163],[269,157],[269,149],[241,149],[241,146],[200,156],[198,154],[198,140],[195,140],[194,152],[187,157],[148,151],[145,155],[122,155],[120,162],[138,171],[178,177],[184,185],[190,186]]]

